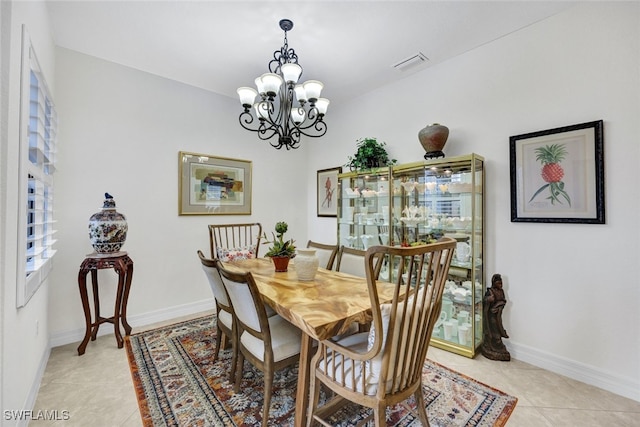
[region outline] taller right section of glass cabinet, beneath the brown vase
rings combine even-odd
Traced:
[[[390,241],[416,245],[456,239],[432,345],[474,357],[482,343],[484,159],[477,154],[394,166]]]

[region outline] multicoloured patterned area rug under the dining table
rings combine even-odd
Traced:
[[[126,337],[127,356],[145,426],[255,426],[262,421],[262,372],[248,362],[241,391],[229,381],[231,351],[212,363],[215,316]],[[427,360],[423,390],[432,426],[503,426],[517,399]],[[270,425],[293,425],[297,365],[274,379]],[[323,397],[321,397],[323,399]],[[387,425],[419,426],[406,406],[387,409]],[[349,405],[334,425],[352,426],[369,410]]]

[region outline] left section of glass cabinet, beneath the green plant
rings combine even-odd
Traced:
[[[338,175],[338,243],[366,250],[388,245],[390,196],[388,167]]]

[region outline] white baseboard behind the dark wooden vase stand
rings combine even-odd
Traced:
[[[203,311],[211,311],[214,308],[215,302],[213,298],[209,298],[194,303],[156,310],[149,313],[127,316],[127,322],[129,322],[129,324],[134,328],[135,332],[135,328],[151,325],[153,323],[165,322],[177,317],[189,316]],[[113,327],[109,326],[109,324],[102,325],[102,327],[98,330],[98,336],[112,334]],[[84,333],[85,328],[83,325],[81,328],[51,334],[51,336],[49,337],[49,347],[59,347],[61,345],[71,344],[74,342],[80,343],[80,341],[82,341],[82,339],[84,338]]]

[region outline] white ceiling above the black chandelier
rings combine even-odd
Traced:
[[[288,32],[302,80],[333,103],[446,61],[572,7],[558,1],[57,1],[58,46],[236,98]],[[418,52],[429,61],[393,64]]]

